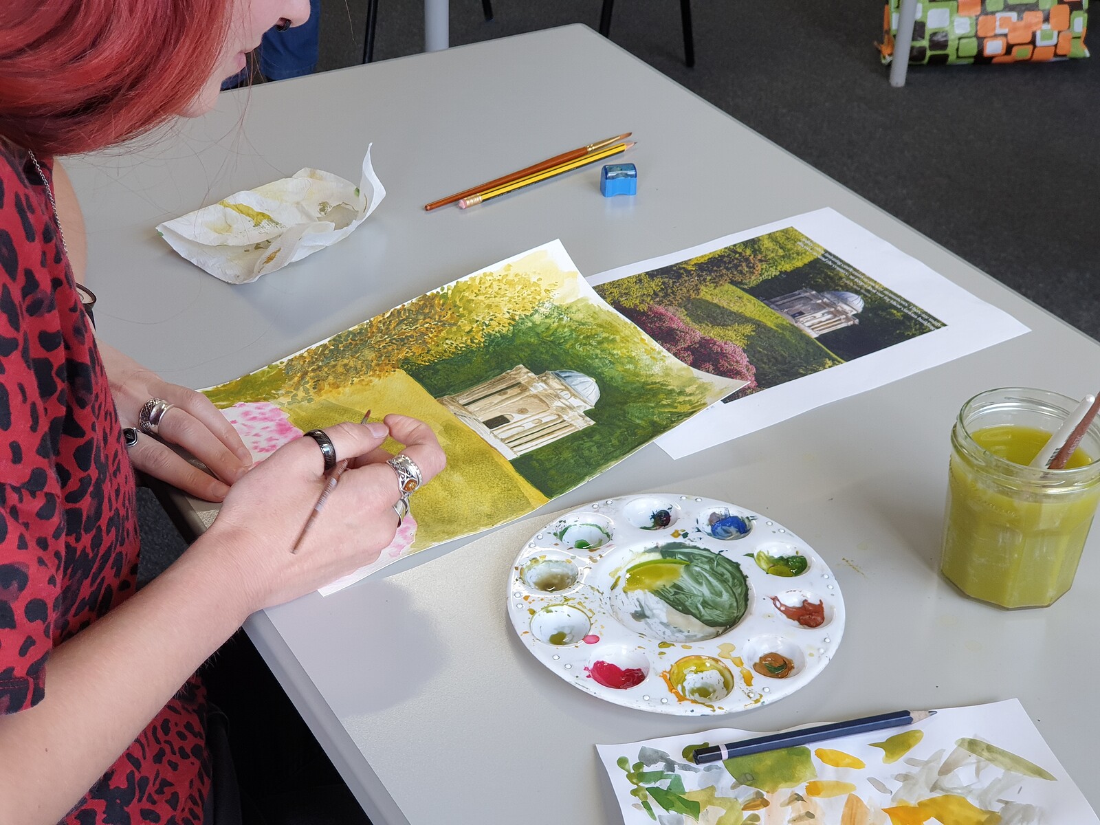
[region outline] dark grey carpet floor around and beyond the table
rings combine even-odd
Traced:
[[[451,0],[461,45],[569,23],[600,0]],[[696,66],[675,0],[618,0],[612,40],[700,97],[1084,332],[1100,337],[1098,58],[914,68],[887,81],[882,4],[694,0]],[[362,58],[365,0],[324,0],[319,70]],[[380,0],[375,59],[422,50],[424,3]],[[568,55],[562,55],[568,59]],[[507,70],[507,67],[502,67]],[[1093,135],[1093,138],[1090,138]],[[733,158],[736,160],[736,158]],[[734,228],[730,228],[733,231]],[[183,549],[141,498],[147,573]]]

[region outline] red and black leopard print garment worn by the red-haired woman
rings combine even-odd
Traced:
[[[47,695],[53,646],[133,594],[139,537],[133,470],[46,184],[26,152],[2,141],[0,473],[0,714],[9,714]],[[193,678],[63,822],[200,825],[205,717]]]

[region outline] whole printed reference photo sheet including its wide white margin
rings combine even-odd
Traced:
[[[658,439],[674,459],[1028,331],[832,209],[588,282],[684,363],[746,382]]]

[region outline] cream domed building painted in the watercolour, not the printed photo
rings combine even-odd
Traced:
[[[594,425],[584,413],[600,402],[600,385],[575,370],[536,375],[520,364],[437,400],[512,460]]]

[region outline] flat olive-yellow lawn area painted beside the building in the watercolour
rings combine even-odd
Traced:
[[[413,496],[413,514],[419,524],[414,551],[510,521],[549,501],[507,459],[400,371],[324,392],[307,404],[290,407],[288,415],[295,427],[311,430],[358,421],[367,409],[372,420],[380,420],[387,409],[398,408],[428,424],[447,453],[447,469]],[[386,449],[396,452],[400,447],[388,442]]]

